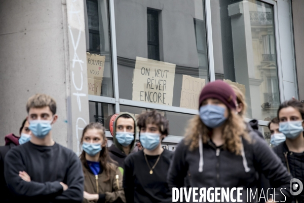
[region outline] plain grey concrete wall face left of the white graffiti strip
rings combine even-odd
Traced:
[[[35,93],[57,101],[54,140],[67,146],[66,77],[61,1],[3,1],[0,6],[0,145],[27,116]]]

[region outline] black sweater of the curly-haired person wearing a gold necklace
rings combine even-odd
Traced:
[[[150,169],[144,158],[143,150],[129,155],[125,159],[123,187],[128,203],[132,202],[172,202],[167,173],[173,152],[164,150],[160,160],[149,174]],[[159,155],[146,155],[150,167],[156,163]]]

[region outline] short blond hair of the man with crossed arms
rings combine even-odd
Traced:
[[[44,108],[49,107],[51,112],[56,114],[56,101],[53,97],[46,94],[35,94],[27,100],[26,111],[29,112],[30,108]]]

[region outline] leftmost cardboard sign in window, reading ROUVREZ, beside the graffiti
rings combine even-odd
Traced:
[[[105,56],[87,52],[88,91],[89,94],[100,96]]]

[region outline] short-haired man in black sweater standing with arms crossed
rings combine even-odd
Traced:
[[[82,202],[84,176],[77,155],[52,139],[58,116],[55,100],[35,94],[26,104],[33,136],[5,157],[4,174],[12,202]]]

